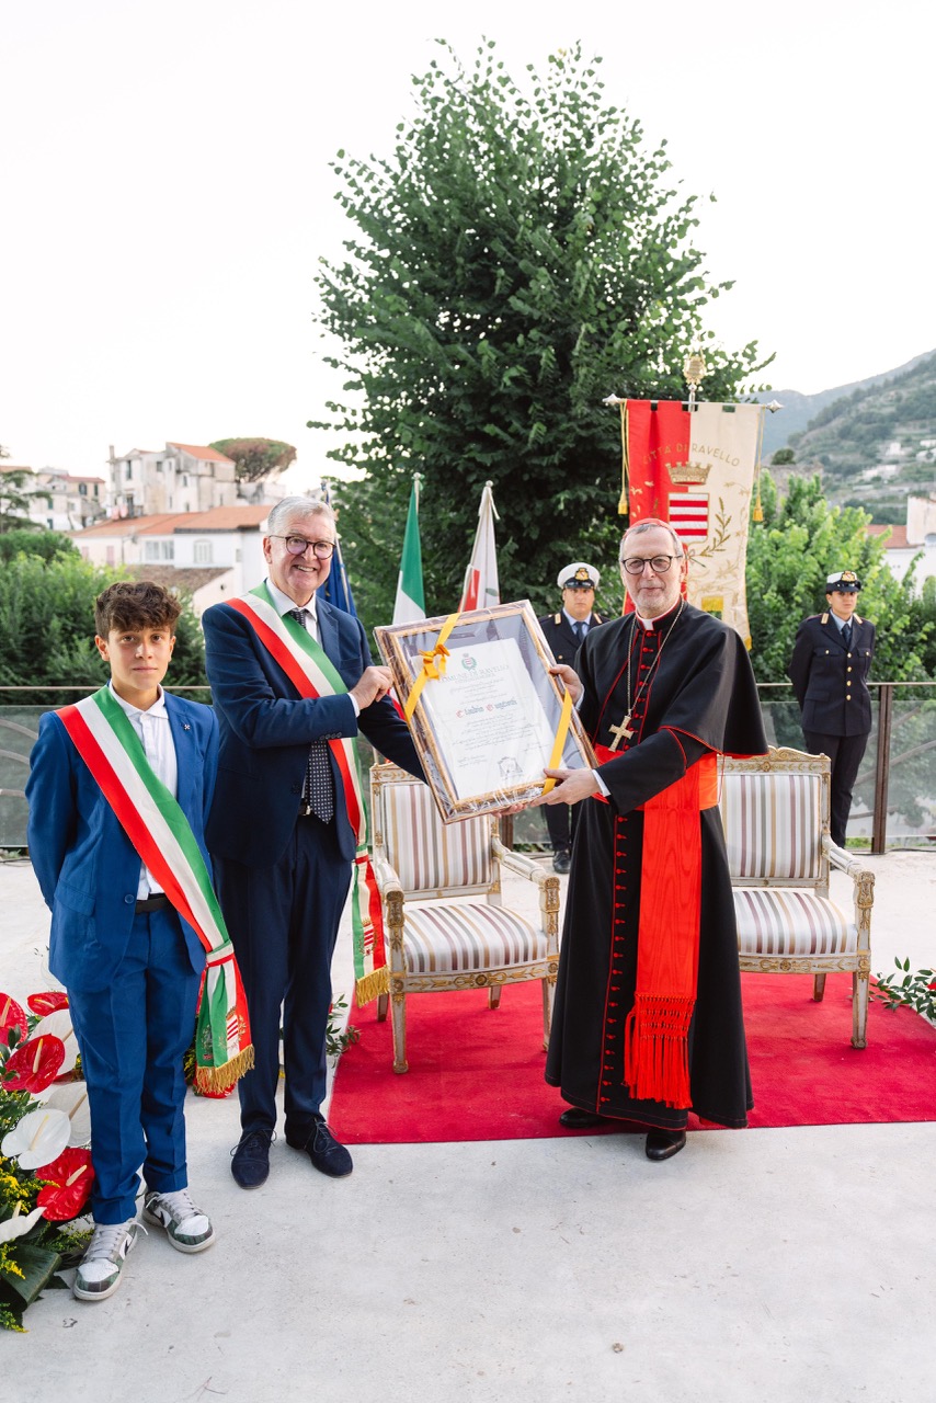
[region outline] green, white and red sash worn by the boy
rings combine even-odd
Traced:
[[[191,825],[156,777],[140,738],[108,687],[58,716],[140,861],[205,947],[195,1083],[205,1092],[227,1090],[254,1065],[254,1048],[234,950]]]

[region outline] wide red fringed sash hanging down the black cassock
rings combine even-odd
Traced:
[[[620,759],[595,745],[601,765]],[[689,1024],[699,976],[702,833],[699,814],[718,803],[714,752],[640,808],[637,984],[624,1023],[624,1085],[639,1100],[689,1108]]]

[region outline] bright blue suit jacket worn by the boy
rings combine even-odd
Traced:
[[[177,800],[205,846],[218,769],[218,723],[210,707],[166,693],[175,745]],[[140,859],[114,810],[55,711],[39,720],[29,756],[27,840],[34,871],[52,912],[49,968],[66,988],[93,993],[116,972],[133,927]],[[182,920],[192,969],[205,950]]]

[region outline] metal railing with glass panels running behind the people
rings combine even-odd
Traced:
[[[855,786],[849,836],[866,839],[871,853],[888,845],[936,847],[936,682],[874,682],[870,687],[874,720]],[[94,685],[0,686],[0,847],[25,846],[22,790],[39,716],[94,690]],[[210,700],[206,686],[168,690]],[[790,685],[762,682],[758,690],[770,744],[804,749]],[[516,815],[514,839],[546,845],[542,810]]]

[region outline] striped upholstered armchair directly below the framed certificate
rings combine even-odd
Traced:
[[[487,989],[497,1009],[505,984],[543,982],[543,1045],[559,971],[559,877],[501,843],[497,819],[442,824],[432,794],[396,765],[370,770],[373,867],[390,946],[393,1070],[406,1072],[411,993]],[[501,867],[539,888],[539,922],[501,901]]]

